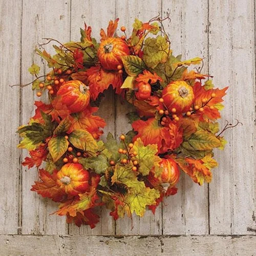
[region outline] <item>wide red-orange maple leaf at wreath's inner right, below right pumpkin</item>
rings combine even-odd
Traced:
[[[155,118],[149,118],[146,121],[133,122],[132,127],[138,132],[134,141],[141,138],[144,145],[157,144],[158,153],[173,151],[182,143],[182,130],[178,129],[174,123],[169,123],[168,127],[162,127],[158,125]]]

